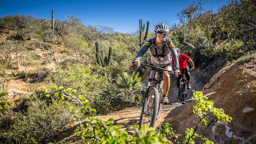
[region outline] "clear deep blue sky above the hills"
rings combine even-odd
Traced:
[[[153,30],[153,23],[165,23],[168,26],[179,23],[174,15],[181,8],[192,4],[193,0],[12,0],[2,1],[0,15],[29,15],[37,18],[63,20],[65,15],[75,15],[85,26],[102,25],[114,28],[120,33],[138,31],[139,20]],[[204,0],[202,0],[204,2]],[[228,0],[209,0],[204,8],[216,11],[219,6],[228,4]]]

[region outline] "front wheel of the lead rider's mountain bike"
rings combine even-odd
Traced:
[[[143,133],[147,132],[147,128],[154,126],[156,122],[157,112],[159,107],[159,96],[156,87],[148,91],[148,96],[144,99],[144,105],[140,114],[139,127],[145,125],[146,129],[142,130]]]

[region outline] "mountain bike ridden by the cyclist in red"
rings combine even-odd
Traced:
[[[187,100],[187,79],[185,76],[185,72],[189,71],[189,69],[187,70],[183,70],[180,72],[180,74],[182,74],[182,79],[180,81],[180,86],[179,86],[179,91],[180,91],[180,102],[182,104],[186,104],[186,100]]]

